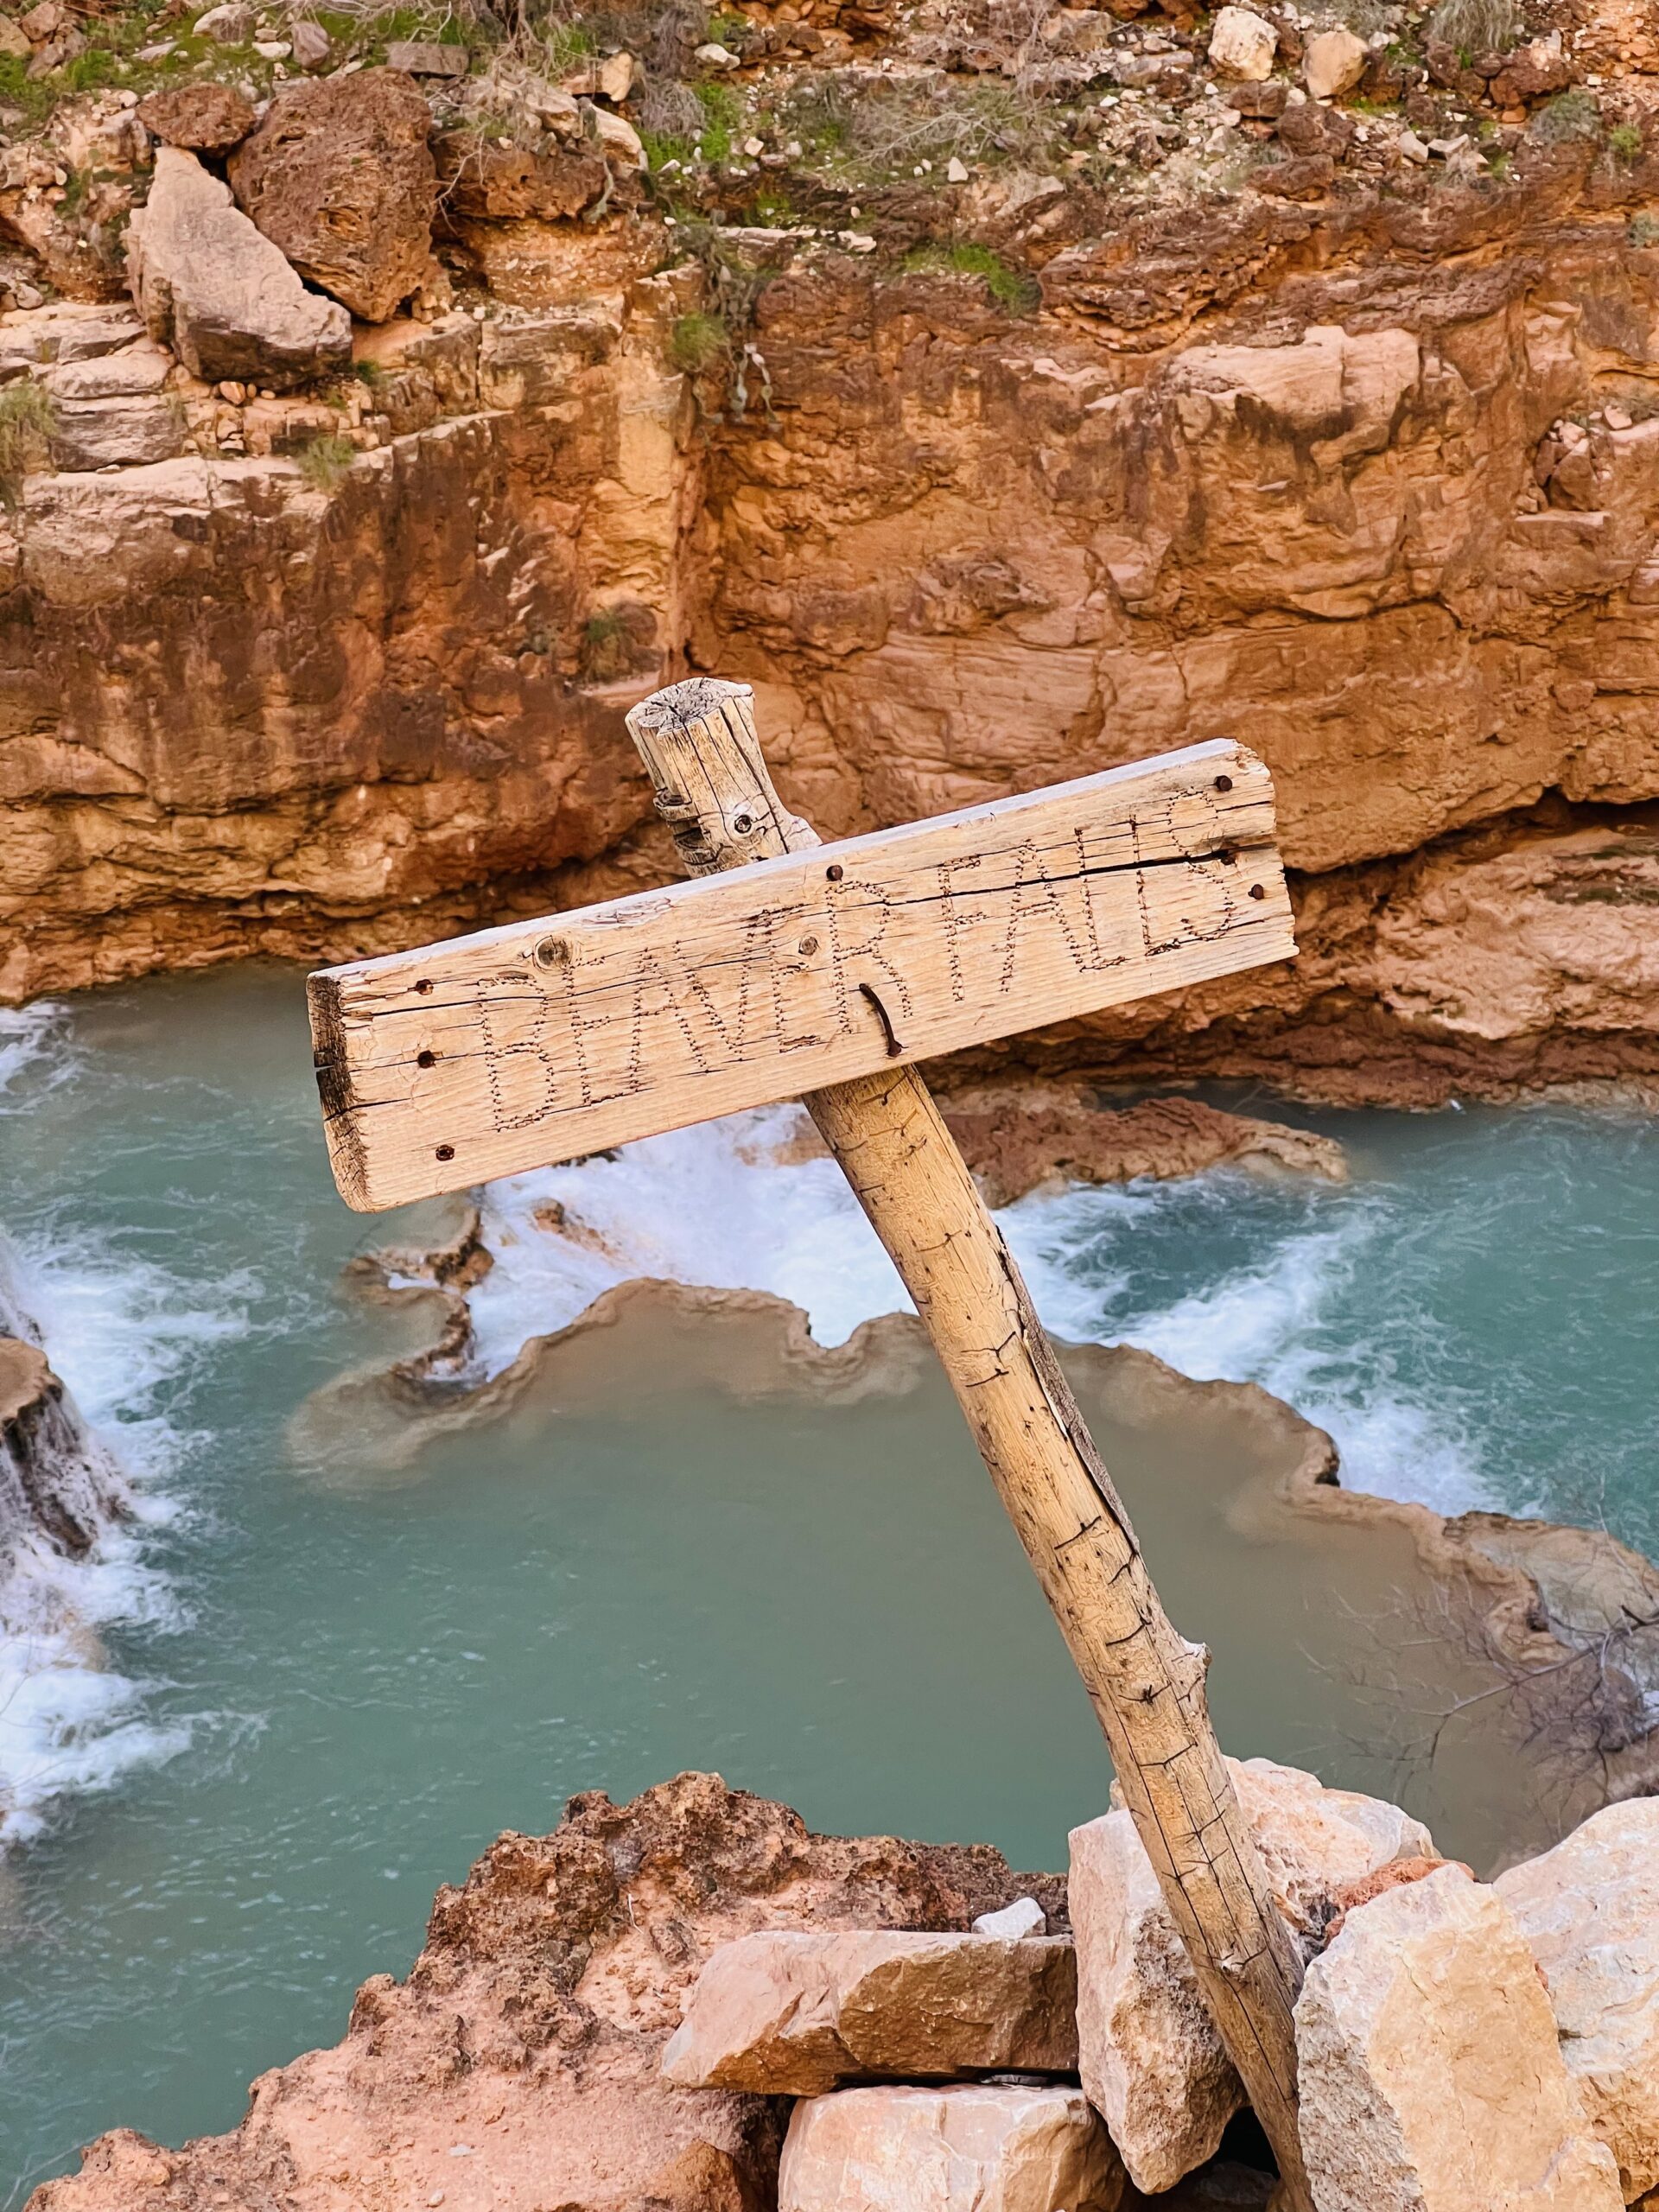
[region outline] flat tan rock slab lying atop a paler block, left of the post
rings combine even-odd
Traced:
[[[739,1936],[703,1966],[664,2079],[818,2097],[869,2077],[1077,2066],[1077,1962],[1060,1938],[902,1929]]]

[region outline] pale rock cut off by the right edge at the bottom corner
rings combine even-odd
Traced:
[[[1544,1969],[1566,2070],[1632,2203],[1659,2188],[1659,1798],[1608,1805],[1493,1889]]]

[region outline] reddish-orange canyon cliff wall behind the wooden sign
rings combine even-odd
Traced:
[[[1133,217],[975,186],[1029,314],[734,226],[770,265],[741,416],[675,367],[703,276],[664,270],[657,215],[500,226],[487,319],[361,332],[338,484],[257,438],[24,480],[0,995],[666,874],[622,712],[710,668],[754,681],[825,834],[1261,750],[1301,962],[1037,1057],[1345,1099],[1650,1086],[1655,186],[1588,144]],[[69,358],[77,314],[4,314],[0,352]]]

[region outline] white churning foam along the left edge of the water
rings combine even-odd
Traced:
[[[73,1073],[60,1009],[0,1015],[0,1113],[27,1110]],[[20,1077],[29,1073],[29,1097]],[[201,1298],[201,1285],[188,1296]],[[62,1376],[111,1515],[75,1559],[42,1535],[13,1533],[0,1555],[0,1847],[27,1843],[71,1796],[111,1790],[135,1767],[177,1756],[190,1717],[155,1719],[155,1683],[111,1666],[102,1630],[188,1626],[179,1593],[150,1557],[179,1504],[166,1475],[190,1442],[159,1411],[161,1385],[241,1329],[234,1303],[186,1303],[166,1270],[91,1234],[0,1239],[0,1327],[42,1343]]]

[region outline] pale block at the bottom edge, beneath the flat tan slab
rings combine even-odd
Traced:
[[[779,2212],[1115,2212],[1124,2168],[1075,2088],[849,2088],[796,2104]]]

